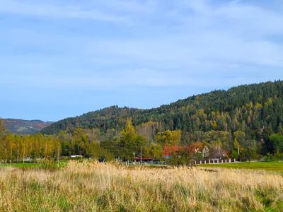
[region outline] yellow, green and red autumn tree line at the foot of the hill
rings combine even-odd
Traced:
[[[146,126],[147,125],[147,126]],[[164,159],[170,156],[172,163],[191,163],[192,160],[208,158],[236,158],[251,160],[260,158],[262,146],[244,131],[195,131],[195,141],[182,141],[183,131],[158,131],[154,122],[144,123],[151,129],[154,139],[144,128],[136,129],[127,119],[121,131],[99,131],[98,129],[76,128],[74,131],[59,131],[56,135],[40,133],[18,136],[9,133],[0,120],[0,160],[3,163],[39,159],[57,160],[71,155],[103,160],[133,160],[143,158]],[[283,157],[283,129],[267,137],[268,153]],[[156,132],[156,133],[155,133]],[[151,135],[150,134],[150,135]]]

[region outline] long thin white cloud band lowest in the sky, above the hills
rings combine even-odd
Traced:
[[[31,74],[18,73],[11,76],[7,73],[0,79],[1,86],[11,87],[21,86],[25,88],[77,88],[93,90],[115,90],[121,86],[182,86],[186,79],[174,73],[163,73],[150,69],[136,69],[131,71],[104,71],[100,74],[84,74],[78,76],[69,74],[38,73]]]

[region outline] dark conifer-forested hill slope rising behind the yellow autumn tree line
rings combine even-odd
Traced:
[[[158,130],[181,129],[183,135],[195,131],[244,131],[260,141],[262,134],[272,134],[283,124],[283,81],[215,90],[178,100],[150,110],[108,107],[79,117],[63,119],[47,126],[43,134],[61,130],[98,128],[119,130],[130,117],[139,129],[146,122]]]

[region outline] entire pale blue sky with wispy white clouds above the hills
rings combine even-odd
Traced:
[[[283,79],[281,0],[0,0],[0,117],[57,121]]]

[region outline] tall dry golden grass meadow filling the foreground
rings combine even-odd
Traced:
[[[0,211],[282,211],[283,177],[255,170],[70,162],[0,170]]]

